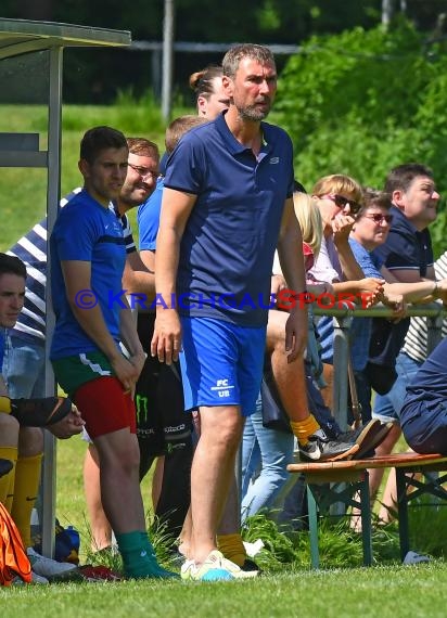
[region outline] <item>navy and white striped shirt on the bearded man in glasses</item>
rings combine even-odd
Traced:
[[[62,197],[61,208],[66,206],[80,191],[81,188],[78,186]],[[110,208],[117,214],[112,204]],[[131,254],[137,250],[132,230],[126,215],[120,219],[126,253]],[[18,257],[25,263],[27,273],[24,308],[14,329],[9,330],[9,334],[41,345],[46,338],[47,240],[47,218],[44,218],[7,252],[9,255]]]

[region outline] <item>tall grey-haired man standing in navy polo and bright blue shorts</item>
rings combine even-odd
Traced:
[[[183,347],[186,409],[200,408],[192,543],[182,566],[183,579],[194,580],[244,577],[217,551],[216,529],[243,417],[254,412],[259,392],[277,245],[288,284],[297,294],[305,287],[292,143],[261,123],[277,90],[273,56],[260,46],[235,46],[222,67],[229,110],[189,131],[168,160],[155,268],[163,301],[152,353],[170,363]],[[306,343],[298,305],[286,323],[291,362]]]

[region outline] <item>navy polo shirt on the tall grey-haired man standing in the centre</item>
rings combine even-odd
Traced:
[[[293,193],[293,149],[261,123],[257,157],[229,130],[225,113],[186,133],[167,163],[165,186],[196,195],[180,244],[183,316],[267,323],[270,276],[284,202]]]

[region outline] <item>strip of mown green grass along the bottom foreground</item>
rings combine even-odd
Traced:
[[[221,583],[123,582],[0,590],[2,618],[444,618],[447,567],[330,570]]]

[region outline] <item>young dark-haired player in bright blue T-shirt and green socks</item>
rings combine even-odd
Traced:
[[[102,503],[126,576],[167,578],[174,574],[157,564],[145,531],[132,402],[145,357],[122,294],[123,227],[108,208],[125,182],[128,154],[126,138],[110,127],[90,129],[81,140],[84,190],[61,210],[51,235],[51,360],[99,453]]]

